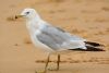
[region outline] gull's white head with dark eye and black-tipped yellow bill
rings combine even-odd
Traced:
[[[24,9],[20,15],[16,15],[15,19],[25,17],[27,20],[39,19],[38,13],[35,9]]]

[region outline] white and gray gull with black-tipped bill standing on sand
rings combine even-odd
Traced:
[[[15,16],[15,19],[19,17],[26,19],[33,44],[49,52],[44,73],[47,72],[49,57],[52,52],[62,50],[104,51],[99,48],[100,44],[87,41],[43,21],[34,9],[24,9],[20,15]],[[59,62],[60,54],[58,53],[56,70],[59,70]]]

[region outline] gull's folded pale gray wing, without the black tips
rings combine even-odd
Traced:
[[[59,50],[61,48],[74,48],[71,40],[80,40],[81,38],[70,35],[59,27],[46,25],[40,29],[40,34],[36,35],[39,41],[52,48]],[[76,45],[75,45],[76,46]]]

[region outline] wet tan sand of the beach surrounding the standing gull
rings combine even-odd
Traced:
[[[2,0],[0,2],[0,73],[35,73],[45,66],[47,53],[31,42],[25,20],[12,20],[24,8],[34,8],[44,20],[92,41],[104,52],[61,54],[60,71],[48,73],[109,73],[108,0]],[[56,68],[51,56],[49,68]]]

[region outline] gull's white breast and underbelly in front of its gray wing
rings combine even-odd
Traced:
[[[28,22],[26,24],[27,26],[27,29],[29,32],[29,35],[31,35],[31,39],[32,39],[32,42],[35,45],[36,48],[39,48],[39,49],[43,49],[43,50],[46,50],[48,52],[51,52],[53,51],[52,49],[50,49],[48,46],[41,44],[38,39],[37,39],[37,35],[40,33],[38,31],[38,25],[37,24],[34,24],[35,22]]]

